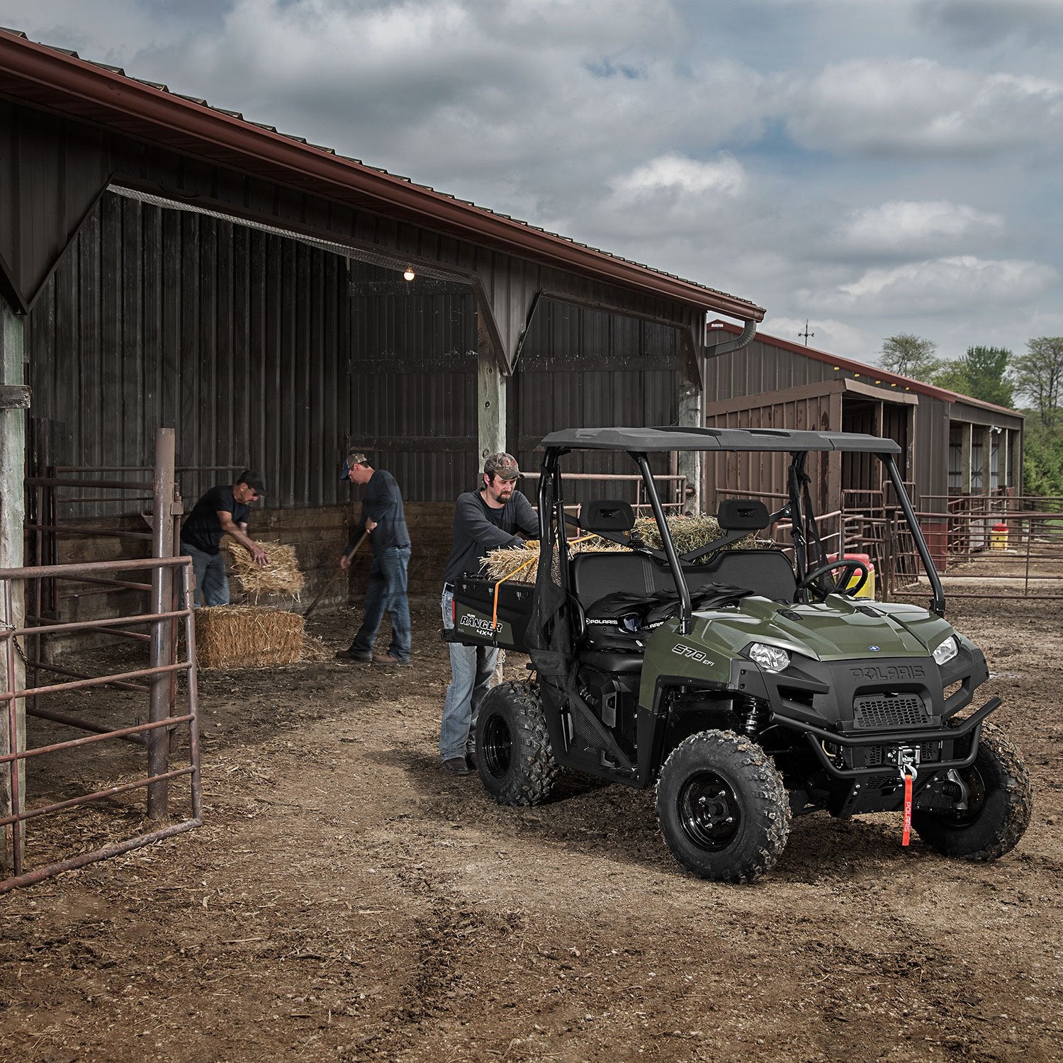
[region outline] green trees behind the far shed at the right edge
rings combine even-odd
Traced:
[[[888,336],[883,369],[1027,415],[1023,460],[1027,494],[1063,495],[1063,336],[1027,340],[1026,353],[968,347],[939,358],[938,344],[912,333]]]

